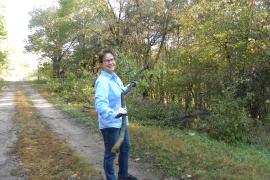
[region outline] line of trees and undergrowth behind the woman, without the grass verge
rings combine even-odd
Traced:
[[[67,101],[93,98],[101,48],[126,83],[149,64],[135,115],[234,142],[270,122],[269,13],[268,0],[59,0],[32,12],[26,49]]]

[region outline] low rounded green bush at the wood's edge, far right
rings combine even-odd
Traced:
[[[247,116],[243,103],[230,95],[219,97],[212,103],[209,133],[225,142],[246,141],[252,119]]]

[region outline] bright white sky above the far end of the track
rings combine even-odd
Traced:
[[[57,0],[4,0],[4,17],[7,31],[8,59],[10,67],[6,80],[27,79],[37,67],[35,54],[26,53],[27,35],[30,33],[28,24],[30,20],[29,12],[34,8],[46,8],[57,4]]]

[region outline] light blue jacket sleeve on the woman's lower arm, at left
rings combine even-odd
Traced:
[[[109,83],[97,80],[95,85],[95,109],[102,119],[114,119],[115,112],[109,107]]]

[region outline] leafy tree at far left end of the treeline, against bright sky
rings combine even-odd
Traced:
[[[53,77],[60,78],[61,63],[70,55],[77,38],[71,31],[72,24],[67,21],[65,14],[58,13],[57,8],[53,7],[33,11],[29,27],[34,32],[28,37],[26,50],[50,58]]]

